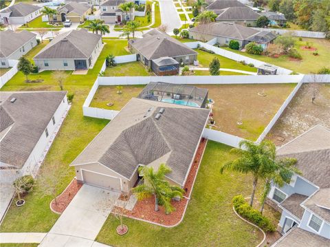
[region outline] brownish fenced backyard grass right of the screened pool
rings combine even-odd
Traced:
[[[256,140],[281,107],[295,84],[196,85],[208,88],[214,100],[216,130]],[[258,92],[265,92],[262,97]],[[236,122],[243,122],[237,125]]]

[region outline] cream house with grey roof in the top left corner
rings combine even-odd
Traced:
[[[41,7],[27,3],[17,3],[0,11],[0,23],[25,24],[41,15]]]

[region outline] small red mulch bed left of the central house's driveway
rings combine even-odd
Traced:
[[[69,186],[67,186],[67,189],[65,189],[61,195],[56,197],[57,204],[55,203],[55,200],[52,200],[52,210],[57,213],[63,213],[72,199],[74,199],[74,196],[78,193],[81,186],[83,186],[83,184],[78,184],[76,178],[74,178]]]

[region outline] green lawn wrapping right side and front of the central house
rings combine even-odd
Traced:
[[[208,142],[183,222],[174,228],[124,218],[129,232],[115,233],[118,219],[109,216],[96,241],[111,246],[256,246],[259,231],[236,217],[232,197],[250,195],[249,175],[220,174],[224,162],[234,158],[230,147]]]

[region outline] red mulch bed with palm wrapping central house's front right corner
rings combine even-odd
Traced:
[[[206,142],[206,139],[202,139],[197,149],[195,160],[192,163],[192,167],[190,169],[186,184],[184,186],[184,189],[186,190],[184,196],[186,197],[189,197],[190,192],[192,191],[193,182],[195,176],[197,175],[197,170],[201,162],[201,157],[203,155]],[[137,201],[133,210],[127,211],[125,215],[127,217],[133,217],[135,219],[148,220],[150,222],[162,224],[164,226],[174,226],[175,224],[180,222],[182,216],[184,215],[186,204],[188,204],[188,199],[186,197],[182,198],[179,202],[175,200],[172,201],[172,205],[174,206],[175,211],[173,211],[169,215],[166,215],[165,210],[162,206],[159,206],[159,211],[155,211],[154,196]]]

